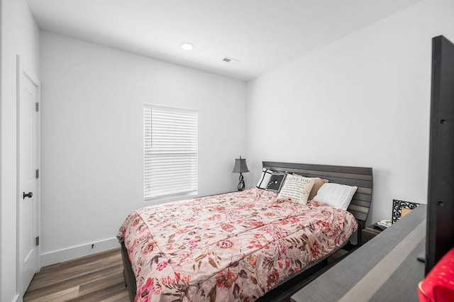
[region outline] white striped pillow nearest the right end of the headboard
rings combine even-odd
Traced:
[[[333,184],[328,182],[320,187],[317,195],[312,199],[319,203],[325,203],[334,208],[347,210],[353,194],[355,194],[358,186],[346,186],[345,184]]]

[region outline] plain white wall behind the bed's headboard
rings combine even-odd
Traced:
[[[262,160],[372,167],[371,221],[426,203],[431,38],[454,41],[453,12],[421,1],[248,82],[249,179]]]

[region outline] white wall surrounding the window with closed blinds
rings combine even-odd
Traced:
[[[43,264],[87,255],[92,242],[118,245],[128,213],[150,205],[144,103],[198,109],[199,195],[236,189],[244,82],[53,33],[40,39]]]

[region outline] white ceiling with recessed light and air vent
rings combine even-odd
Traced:
[[[243,81],[418,1],[27,0],[41,30]]]

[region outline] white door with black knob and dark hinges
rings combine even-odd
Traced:
[[[19,58],[18,58],[19,62]],[[18,286],[23,295],[39,270],[38,84],[18,64]],[[39,83],[39,82],[38,82]]]

